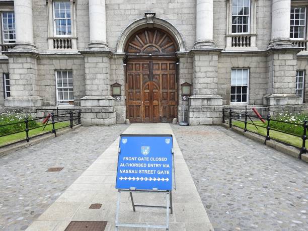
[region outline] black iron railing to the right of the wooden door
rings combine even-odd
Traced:
[[[307,128],[308,128],[308,121],[307,120],[304,120],[303,123],[301,123],[301,124],[300,123],[293,123],[293,122],[289,122],[289,121],[282,121],[282,120],[272,119],[271,115],[268,114],[267,116],[260,116],[259,117],[259,119],[262,118],[262,119],[266,120],[265,121],[266,122],[266,126],[261,126],[259,124],[256,124],[254,122],[254,120],[252,119],[252,118],[258,118],[258,116],[249,115],[247,107],[245,108],[245,112],[244,113],[239,113],[239,112],[236,112],[236,111],[239,111],[239,109],[238,108],[234,108],[234,109],[232,109],[232,108],[224,108],[222,110],[222,123],[228,124],[230,128],[232,128],[234,126],[234,127],[238,127],[238,128],[243,129],[243,127],[235,125],[233,123],[233,121],[236,120],[236,121],[244,122],[244,129],[243,129],[244,132],[249,131],[249,132],[261,135],[261,136],[265,137],[264,142],[266,142],[267,140],[271,140],[272,139],[272,140],[284,143],[286,145],[293,146],[293,147],[295,147],[297,149],[300,149],[299,154],[298,154],[298,159],[299,160],[301,160],[301,155],[303,153],[306,153],[307,150],[306,150],[305,145],[306,145],[306,139],[307,139],[306,132],[307,132]],[[241,118],[244,118],[244,121]],[[271,122],[290,124],[290,125],[294,125],[294,126],[295,125],[296,126],[301,126],[302,127],[302,135],[297,135],[297,134],[294,134],[294,133],[291,133],[291,132],[282,131],[282,130],[274,128],[273,126],[271,127],[271,125],[272,125]],[[266,129],[266,135],[263,135],[263,134],[261,134],[259,132],[255,132],[255,131],[249,130],[248,126],[247,126],[248,124],[255,126],[257,128],[257,130],[258,130],[258,127]],[[302,140],[301,147],[298,147],[298,146],[295,146],[295,145],[293,145],[291,143],[287,143],[287,142],[284,142],[282,140],[278,140],[278,139],[275,139],[275,138],[271,137],[270,136],[270,131],[271,130],[300,138]]]

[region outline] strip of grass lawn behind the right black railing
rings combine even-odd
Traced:
[[[250,123],[251,123],[251,121],[250,121]],[[254,121],[254,123],[257,124],[257,125],[263,126],[264,128],[263,127],[258,127],[258,129],[259,129],[258,130],[254,125],[247,124],[247,129],[249,131],[257,132],[257,133],[259,133],[261,135],[265,135],[266,136],[266,134],[267,134],[266,126],[267,125],[262,123],[261,121]],[[243,129],[245,127],[244,121],[243,122],[232,121],[232,124],[236,125],[238,127],[241,127]],[[277,132],[277,131],[272,131],[272,130],[270,130],[269,135],[270,135],[271,138],[283,141],[285,143],[292,144],[292,145],[297,146],[297,147],[301,147],[301,145],[302,145],[302,139],[299,138],[299,137],[293,136],[293,135],[288,135],[288,134],[284,134],[284,133]],[[265,138],[264,138],[264,140],[265,140]],[[306,147],[308,147],[307,143],[306,143]]]

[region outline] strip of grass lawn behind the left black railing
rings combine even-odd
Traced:
[[[39,123],[38,126],[41,126],[43,124]],[[59,122],[59,123],[55,123],[54,127],[55,129],[59,129],[65,126],[69,125],[69,121],[65,121],[65,122]],[[45,127],[45,129],[43,130],[44,127],[40,127],[40,128],[35,128],[33,130],[29,131],[29,137],[34,136],[34,135],[38,135],[47,131],[52,131],[52,124],[48,123],[48,125]],[[20,132],[17,134],[13,134],[13,135],[8,135],[8,136],[4,136],[4,137],[0,137],[0,146],[3,146],[5,144],[8,143],[12,143],[15,141],[19,141],[19,140],[25,140],[26,139],[26,132]]]

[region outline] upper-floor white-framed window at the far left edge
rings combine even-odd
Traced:
[[[14,12],[2,12],[2,36],[3,43],[15,43],[15,14]]]

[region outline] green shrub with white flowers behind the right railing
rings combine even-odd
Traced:
[[[291,123],[303,124],[304,120],[308,120],[308,114],[307,113],[300,113],[300,114],[281,113],[281,114],[279,114],[279,116],[277,116],[273,119],[291,122]],[[302,135],[302,133],[303,133],[302,125],[271,121],[270,127],[275,128],[275,129],[280,130],[280,131],[285,131],[285,132],[288,132],[288,133],[291,133],[291,134],[295,134],[295,135]]]

